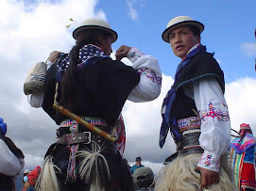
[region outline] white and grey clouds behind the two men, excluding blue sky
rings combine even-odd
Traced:
[[[42,165],[58,128],[43,109],[31,108],[26,102],[23,84],[27,72],[36,62],[44,61],[51,51],[70,50],[75,42],[72,39],[75,26],[65,28],[70,24],[70,17],[78,24],[89,17],[107,19],[103,10],[95,11],[97,1],[64,0],[58,5],[43,2],[27,11],[16,1],[0,1],[0,117],[8,123],[7,135],[24,151],[26,168]],[[114,58],[114,53],[111,56]],[[128,64],[127,59],[123,61]],[[125,157],[133,164],[135,157],[141,155],[145,165],[154,168],[155,173],[164,159],[175,152],[171,135],[162,150],[158,146],[162,100],[172,84],[173,78],[163,75],[158,99],[149,103],[128,101],[123,109],[127,129]],[[237,130],[241,123],[247,122],[256,135],[255,95],[255,79],[241,78],[227,84],[232,128]]]

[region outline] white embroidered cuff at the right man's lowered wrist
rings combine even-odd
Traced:
[[[204,151],[197,164],[198,167],[203,167],[215,172],[219,171],[220,157],[215,157],[213,153]]]

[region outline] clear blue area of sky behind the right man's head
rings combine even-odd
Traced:
[[[134,17],[129,15],[128,5],[133,8]],[[244,76],[255,77],[255,47],[250,51],[252,55],[243,49],[246,43],[255,43],[255,1],[101,0],[96,8],[106,12],[112,28],[119,34],[113,48],[121,44],[137,46],[156,56],[165,74],[174,75],[179,58],[162,41],[162,31],[172,18],[188,15],[205,25],[201,42],[220,60],[228,83]]]

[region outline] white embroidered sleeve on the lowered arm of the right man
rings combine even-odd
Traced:
[[[199,143],[204,150],[197,166],[219,171],[220,156],[230,146],[228,105],[213,77],[198,80],[193,88],[196,108],[201,118]]]

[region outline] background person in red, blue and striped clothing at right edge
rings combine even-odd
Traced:
[[[235,185],[239,191],[255,190],[256,137],[247,123],[240,125],[239,135],[230,142],[230,166],[234,169]]]

